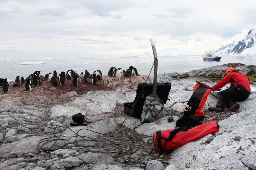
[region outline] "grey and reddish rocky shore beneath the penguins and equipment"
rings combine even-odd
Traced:
[[[207,74],[219,71],[221,75],[226,67],[229,65],[195,70],[188,75],[207,70]],[[255,74],[255,66],[237,67],[245,74]],[[196,81],[212,86],[220,80],[173,78],[173,75],[177,73],[158,75],[158,82],[172,84],[170,100],[164,105],[166,116],[158,119],[159,124],[155,121],[142,124],[140,119],[127,118],[124,113],[123,103],[134,101],[138,83],[145,82],[147,76],[121,77],[121,80],[103,76],[96,85],[88,82],[77,87],[71,81],[58,87],[44,81],[31,91],[25,91],[24,84],[15,88],[10,85],[9,93],[0,93],[0,169],[256,169],[256,93],[239,102],[241,107],[237,112],[208,111],[208,106],[217,101],[210,94],[203,107],[206,116],[203,122],[217,120],[219,132],[172,152],[160,155],[156,151],[153,132],[176,128],[175,122],[183,115],[184,104],[191,97]],[[152,82],[151,77],[148,83]],[[250,84],[256,87],[255,82]],[[76,113],[88,117],[87,126],[70,126]],[[170,115],[174,117],[172,122],[167,121]],[[75,139],[76,133],[83,138]],[[47,151],[59,136],[57,147]],[[40,140],[49,137],[53,142],[42,146]]]

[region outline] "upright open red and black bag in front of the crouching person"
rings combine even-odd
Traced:
[[[207,100],[207,96],[213,89],[204,83],[198,81],[196,82],[197,83],[193,89],[193,94],[189,99],[183,113],[183,117],[195,116],[200,121],[205,118],[202,108]]]

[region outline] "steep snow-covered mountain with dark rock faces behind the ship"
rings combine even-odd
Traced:
[[[216,53],[222,55],[256,55],[256,29],[251,29],[245,38],[221,46]]]

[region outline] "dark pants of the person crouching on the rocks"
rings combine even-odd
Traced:
[[[226,107],[229,109],[235,104],[235,102],[241,102],[246,100],[250,96],[250,94],[251,93],[243,86],[238,86],[237,88],[231,86],[230,88],[221,91],[217,95],[218,103],[216,107],[224,110],[226,105]]]

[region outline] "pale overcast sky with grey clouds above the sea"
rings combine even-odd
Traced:
[[[0,0],[0,59],[203,54],[256,28],[255,0]]]

